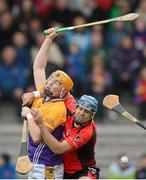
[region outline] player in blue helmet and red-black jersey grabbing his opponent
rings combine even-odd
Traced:
[[[70,113],[62,142],[49,133],[38,110],[32,109],[31,114],[46,144],[54,153],[61,154],[64,162],[64,179],[98,179],[99,168],[96,167],[94,151],[97,130],[93,121],[98,101],[92,96],[83,95],[76,103],[70,95],[66,99],[66,106]]]

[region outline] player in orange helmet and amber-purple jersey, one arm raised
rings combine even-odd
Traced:
[[[33,92],[35,97],[33,108],[37,109],[43,118],[43,124],[47,130],[60,140],[66,122],[67,110],[64,103],[64,95],[73,87],[71,78],[63,71],[53,72],[46,80],[45,68],[48,61],[48,50],[52,40],[57,35],[54,28],[48,29],[49,35],[45,40],[35,58],[33,71],[37,91]],[[39,91],[38,91],[39,90]],[[43,92],[44,97],[40,97],[39,92]],[[26,105],[25,94],[23,106]],[[29,144],[28,155],[34,164],[33,170],[29,173],[28,179],[62,179],[63,162],[59,155],[54,154],[44,142],[41,131],[31,115],[31,109],[22,108],[22,116],[28,119]]]

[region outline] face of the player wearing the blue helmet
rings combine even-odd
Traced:
[[[84,107],[78,106],[75,111],[74,117],[77,121],[86,123],[92,119],[92,113]]]

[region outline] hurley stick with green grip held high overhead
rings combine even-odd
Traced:
[[[64,27],[64,28],[57,28],[56,32],[57,33],[66,32],[66,31],[71,31],[71,30],[78,29],[78,28],[85,28],[85,27],[89,27],[89,26],[105,24],[105,23],[115,22],[115,21],[133,21],[138,17],[139,17],[139,14],[130,13],[130,14],[126,14],[124,16],[119,16],[119,17],[115,17],[115,18],[111,18],[111,19],[102,20],[102,21],[96,21],[96,22],[92,22],[92,23],[88,23],[88,24],[82,24],[82,25],[78,25],[78,26],[70,26],[70,27]],[[44,35],[48,35],[48,34],[49,33],[47,32],[47,30],[45,30]]]

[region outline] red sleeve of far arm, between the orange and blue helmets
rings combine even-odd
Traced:
[[[70,96],[65,100],[65,105],[69,111],[74,112],[77,106],[77,102],[73,96]]]

